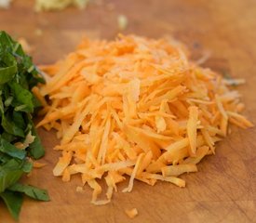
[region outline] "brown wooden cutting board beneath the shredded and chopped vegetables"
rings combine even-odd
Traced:
[[[0,11],[0,29],[24,37],[32,46],[37,64],[53,62],[74,48],[81,36],[115,38],[117,16],[128,17],[124,33],[150,37],[174,35],[187,44],[196,59],[209,51],[207,66],[231,72],[247,84],[239,87],[247,105],[246,114],[256,124],[256,7],[254,1],[226,0],[130,0],[94,1],[84,11],[68,8],[36,14],[32,0],[17,0],[10,10]],[[77,193],[78,177],[63,183],[52,176],[58,151],[53,132],[39,129],[47,154],[47,166],[23,180],[49,191],[51,202],[26,200],[20,223],[82,222],[256,222],[256,129],[234,128],[205,158],[199,172],[182,176],[185,189],[168,183],[155,187],[135,182],[130,193],[117,192],[113,202],[90,204],[91,190]],[[121,188],[127,185],[125,182]],[[136,207],[139,216],[130,220],[124,213]],[[0,204],[0,222],[14,222]]]

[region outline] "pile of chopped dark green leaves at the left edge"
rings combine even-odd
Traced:
[[[23,174],[32,170],[28,158],[39,159],[45,154],[32,121],[40,103],[30,90],[38,83],[44,83],[44,78],[32,59],[19,43],[0,32],[0,200],[15,219],[20,214],[23,194],[49,200],[47,190],[18,183]]]

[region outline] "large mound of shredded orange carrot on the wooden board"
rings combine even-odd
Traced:
[[[134,179],[184,187],[179,176],[196,172],[196,164],[214,154],[229,123],[252,126],[239,114],[244,104],[230,83],[189,61],[185,48],[170,39],[85,39],[41,69],[47,85],[34,94],[45,117],[37,126],[56,129],[61,138],[53,174],[63,181],[80,175],[95,204],[109,203],[127,176],[123,192],[133,189]],[[106,199],[98,200],[101,178]]]

